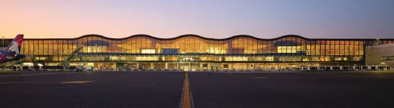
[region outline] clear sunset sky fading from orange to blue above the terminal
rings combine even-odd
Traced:
[[[0,13],[6,38],[394,38],[393,0],[4,0]]]

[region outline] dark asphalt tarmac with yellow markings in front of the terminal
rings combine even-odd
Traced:
[[[393,84],[393,71],[0,72],[0,107],[394,107]]]

